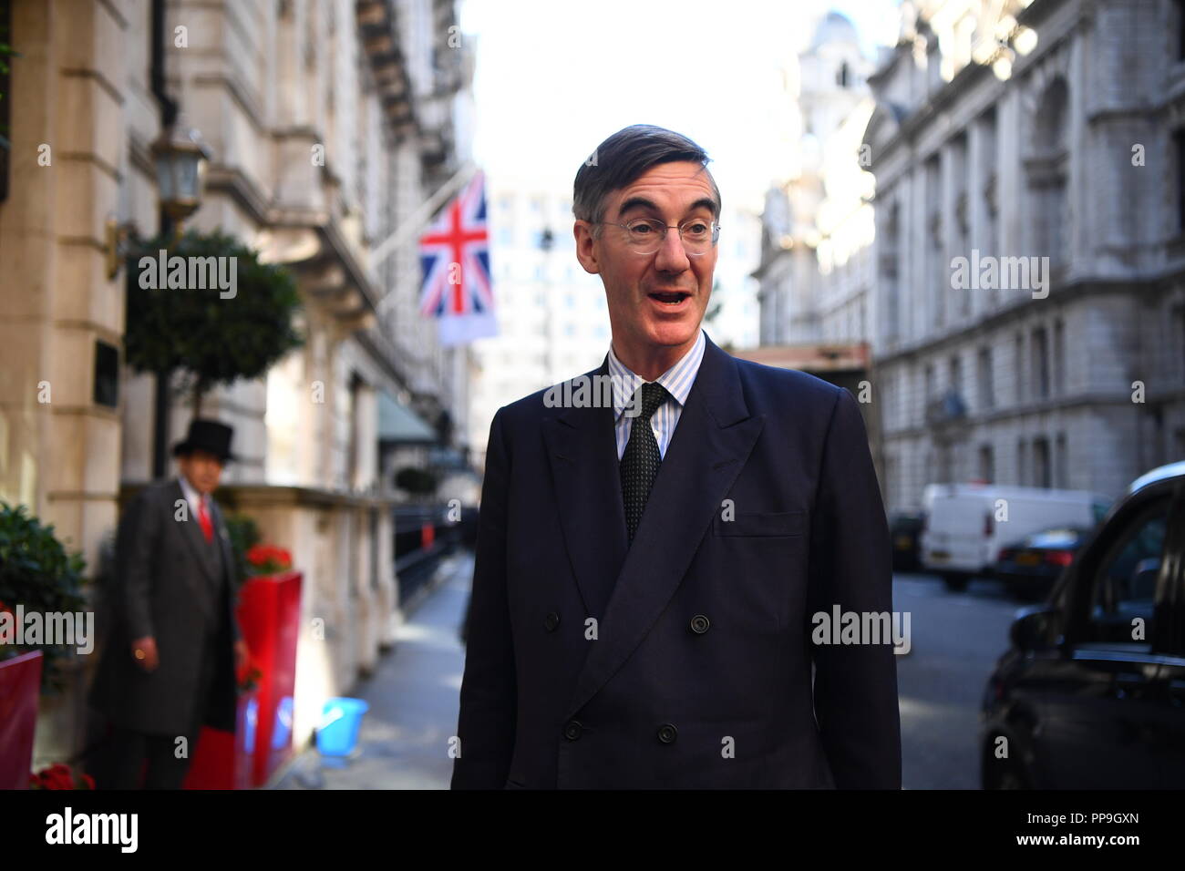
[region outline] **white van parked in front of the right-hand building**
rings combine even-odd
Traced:
[[[1003,546],[1055,526],[1093,529],[1109,501],[1077,489],[927,485],[922,491],[922,568],[961,590],[971,578],[988,572]]]

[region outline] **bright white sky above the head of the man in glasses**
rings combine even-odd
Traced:
[[[728,203],[761,210],[784,177],[780,68],[827,9],[870,57],[897,37],[897,0],[463,0],[478,39],[474,159],[488,173],[571,184],[611,133],[653,123],[707,150]],[[678,9],[675,12],[674,9]]]

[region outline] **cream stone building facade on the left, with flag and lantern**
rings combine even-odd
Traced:
[[[158,229],[154,14],[164,89],[213,155],[186,226],[222,229],[287,265],[303,303],[305,347],[203,404],[236,430],[242,460],[224,474],[224,499],[305,572],[301,741],[398,620],[380,395],[466,433],[469,353],[438,346],[417,314],[417,235],[382,260],[373,251],[467,158],[456,119],[473,57],[453,0],[12,4],[21,56],[5,95],[0,495],[53,521],[91,566],[121,494],[152,478],[154,378],[121,365],[117,398],[100,402],[96,359],[120,351],[127,316],[126,276],[105,267],[108,224]],[[46,148],[52,161],[38,162]],[[50,402],[38,401],[41,383]],[[173,402],[169,443],[192,415]],[[318,617],[324,639],[310,630]],[[81,745],[89,665],[44,703],[38,760]]]

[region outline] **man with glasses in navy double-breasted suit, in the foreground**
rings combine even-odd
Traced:
[[[491,425],[451,786],[899,789],[892,647],[815,642],[818,615],[892,609],[859,406],[702,331],[694,142],[634,126],[595,155],[574,231],[613,341]]]

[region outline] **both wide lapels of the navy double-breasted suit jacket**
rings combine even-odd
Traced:
[[[764,424],[763,416],[749,415],[736,360],[707,339],[633,545],[622,562],[613,562],[619,529],[620,544],[626,546],[624,510],[611,409],[602,420],[608,422],[601,431],[594,433],[591,424],[578,428],[572,443],[578,442],[585,453],[577,454],[574,462],[559,465],[552,454],[553,468],[563,470],[556,476],[559,506],[569,518],[565,540],[582,589],[594,581],[595,572],[621,565],[569,716],[613,677],[666,608]],[[590,489],[578,491],[582,485]],[[611,497],[615,500],[609,505]],[[611,546],[606,546],[607,538]]]

